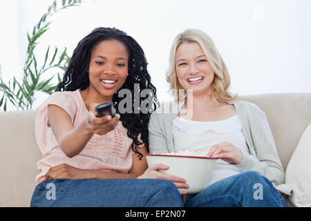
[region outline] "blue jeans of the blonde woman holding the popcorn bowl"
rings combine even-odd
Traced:
[[[185,202],[187,207],[287,206],[272,182],[254,171],[219,180]]]

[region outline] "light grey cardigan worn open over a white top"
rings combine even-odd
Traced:
[[[276,151],[276,144],[265,113],[256,104],[234,100],[236,114],[242,125],[243,135],[250,155],[243,155],[243,160],[236,166],[244,171],[256,171],[267,177],[278,191],[290,195],[292,188],[285,182],[285,173]],[[176,152],[173,144],[172,121],[184,102],[167,102],[154,113],[149,121],[149,152]]]

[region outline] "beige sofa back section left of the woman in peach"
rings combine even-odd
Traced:
[[[0,112],[0,206],[29,206],[41,153],[36,111]]]

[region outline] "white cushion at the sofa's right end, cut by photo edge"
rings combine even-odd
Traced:
[[[290,203],[311,206],[311,124],[305,129],[285,173],[285,183],[292,186]]]

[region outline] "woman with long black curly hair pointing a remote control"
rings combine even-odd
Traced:
[[[79,42],[63,81],[37,108],[42,159],[30,206],[182,206],[172,182],[137,179],[147,169],[150,113],[119,110],[119,92],[133,95],[135,86],[151,92],[146,108],[154,110],[156,88],[133,37],[95,28]],[[129,104],[145,99],[129,97]],[[117,115],[96,117],[103,102],[113,102]]]

